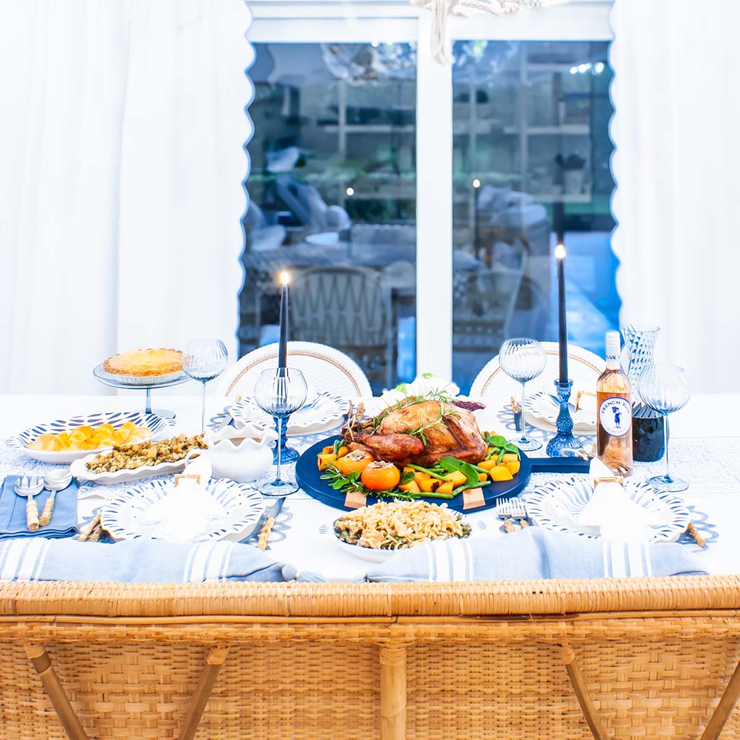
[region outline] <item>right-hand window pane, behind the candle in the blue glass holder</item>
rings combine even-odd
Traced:
[[[511,336],[557,339],[552,253],[568,249],[568,336],[616,328],[608,44],[454,45],[453,367],[463,390]]]

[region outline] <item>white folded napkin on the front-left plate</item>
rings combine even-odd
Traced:
[[[226,509],[195,480],[181,480],[141,517],[149,536],[168,542],[198,542],[229,524]]]

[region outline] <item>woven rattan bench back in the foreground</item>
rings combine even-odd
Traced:
[[[0,642],[3,740],[740,737],[738,576],[4,583]]]

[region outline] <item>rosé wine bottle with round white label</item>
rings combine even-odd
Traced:
[[[596,445],[599,460],[614,474],[632,474],[630,380],[619,364],[619,332],[606,333],[606,370],[596,381]]]

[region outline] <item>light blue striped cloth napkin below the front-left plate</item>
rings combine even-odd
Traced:
[[[316,581],[252,545],[129,539],[105,545],[76,539],[0,542],[0,580],[188,583],[204,581]]]

